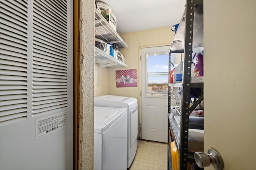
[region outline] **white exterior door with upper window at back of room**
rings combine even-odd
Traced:
[[[142,139],[165,143],[168,137],[169,48],[141,49]]]

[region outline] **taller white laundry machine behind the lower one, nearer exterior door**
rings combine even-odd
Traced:
[[[138,146],[138,101],[125,96],[104,95],[94,98],[94,106],[127,109],[127,168],[134,160]]]

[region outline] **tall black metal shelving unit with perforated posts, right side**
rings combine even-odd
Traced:
[[[194,154],[188,152],[188,129],[189,115],[198,104],[203,100],[204,83],[191,83],[191,63],[192,49],[203,47],[203,1],[202,0],[186,0],[186,9],[178,26],[178,30],[174,36],[170,48],[171,53],[184,53],[184,70],[182,80],[182,103],[181,103],[181,123],[180,134],[178,134],[178,125],[170,113],[170,87],[180,87],[180,85],[169,84],[168,98],[168,125],[172,129],[174,141],[179,152],[179,169],[187,170],[188,162],[194,161]],[[170,61],[170,60],[169,60]],[[169,63],[170,66],[170,63]],[[169,68],[169,74],[170,70]],[[198,88],[198,100],[190,107],[190,92]],[[180,137],[179,137],[180,136]],[[169,141],[168,136],[168,141]],[[168,148],[169,149],[169,148]],[[169,152],[169,150],[168,150]],[[171,157],[168,154],[168,163]],[[169,167],[169,165],[168,165]]]

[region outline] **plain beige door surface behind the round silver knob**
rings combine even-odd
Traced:
[[[204,1],[204,152],[217,149],[224,170],[255,169],[255,7]]]

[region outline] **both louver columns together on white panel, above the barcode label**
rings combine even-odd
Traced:
[[[28,15],[26,0],[0,1],[0,122],[67,107],[67,2]]]

